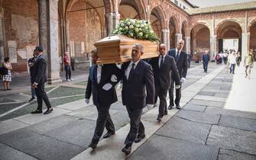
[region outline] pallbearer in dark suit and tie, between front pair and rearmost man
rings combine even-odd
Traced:
[[[170,88],[170,74],[173,73],[176,88],[180,88],[180,76],[173,57],[167,55],[166,45],[159,46],[159,56],[151,59],[151,66],[154,72],[154,103],[157,97],[160,99],[159,114],[157,120],[160,122],[164,115],[167,115],[167,91]]]

